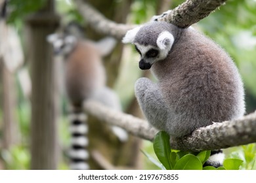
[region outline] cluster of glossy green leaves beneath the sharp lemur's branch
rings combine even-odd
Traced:
[[[165,131],[158,132],[153,141],[153,146],[156,156],[164,169],[167,170],[238,170],[243,163],[242,159],[229,158],[224,160],[223,167],[218,167],[217,169],[211,166],[203,167],[203,164],[211,154],[210,150],[199,152],[198,154],[171,150],[169,135]],[[161,168],[159,163],[156,163],[156,160],[152,159],[148,154],[146,156],[150,158],[152,163]]]

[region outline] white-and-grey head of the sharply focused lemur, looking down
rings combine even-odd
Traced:
[[[140,69],[150,69],[154,63],[167,57],[174,42],[173,35],[167,29],[165,23],[152,22],[127,31],[123,43],[135,44],[140,54]]]

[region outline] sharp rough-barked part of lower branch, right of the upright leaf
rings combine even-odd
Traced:
[[[193,131],[192,135],[171,139],[179,150],[217,150],[256,142],[256,111],[240,120],[215,123]]]

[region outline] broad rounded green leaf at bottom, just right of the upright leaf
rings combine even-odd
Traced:
[[[177,161],[174,170],[202,170],[203,166],[196,156],[187,154]]]

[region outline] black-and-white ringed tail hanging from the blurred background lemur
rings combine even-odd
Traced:
[[[83,111],[74,111],[69,116],[70,118],[70,132],[71,148],[70,156],[70,169],[85,170],[89,169],[89,152],[88,148],[88,124],[87,115]]]

